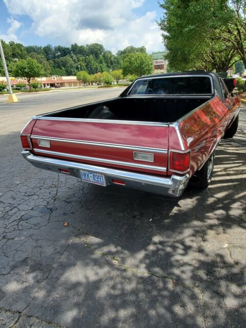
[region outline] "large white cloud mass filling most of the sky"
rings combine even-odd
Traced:
[[[117,51],[126,46],[162,50],[156,12],[137,16],[145,0],[4,0],[12,15],[28,15],[32,31],[61,45],[101,43]],[[17,21],[16,21],[17,22]]]

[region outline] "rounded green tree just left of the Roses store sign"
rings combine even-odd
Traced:
[[[146,53],[130,53],[122,63],[122,73],[124,76],[135,74],[137,76],[151,74],[152,58]]]

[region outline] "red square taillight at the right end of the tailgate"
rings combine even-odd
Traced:
[[[190,169],[191,152],[175,151],[169,152],[169,171],[186,173]]]

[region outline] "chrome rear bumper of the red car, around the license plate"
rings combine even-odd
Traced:
[[[80,178],[79,170],[87,170],[90,172],[103,173],[107,179],[107,185],[115,185],[112,179],[121,179],[126,183],[125,186],[141,191],[147,191],[155,194],[161,194],[171,197],[179,197],[189,181],[189,175],[177,176],[172,175],[169,178],[158,177],[154,175],[140,174],[134,172],[128,172],[124,170],[111,169],[106,167],[94,166],[86,163],[79,163],[68,161],[58,158],[43,157],[33,155],[30,151],[24,150],[22,152],[23,157],[28,160],[32,165],[39,169],[60,172],[59,169],[66,169],[69,174]],[[68,174],[68,173],[64,173]]]

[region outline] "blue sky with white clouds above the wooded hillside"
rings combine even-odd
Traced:
[[[103,44],[163,51],[157,0],[0,0],[0,38],[25,46]]]

